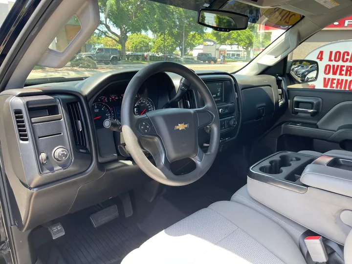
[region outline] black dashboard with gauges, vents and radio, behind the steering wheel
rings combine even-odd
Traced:
[[[83,81],[0,93],[3,168],[16,197],[11,200],[16,212],[12,217],[20,230],[150,181],[129,156],[123,134],[102,126],[105,119],[120,120],[124,92],[136,72],[102,72]],[[275,121],[280,110],[275,77],[216,71],[198,72],[198,76],[217,104],[219,151],[253,140]],[[161,109],[175,97],[182,81],[172,73],[150,77],[138,90],[134,114]],[[203,105],[200,94],[189,84],[178,107]],[[210,135],[208,127],[198,130],[198,144],[204,151]]]

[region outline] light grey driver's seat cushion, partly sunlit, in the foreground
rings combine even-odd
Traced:
[[[161,231],[122,264],[306,263],[287,232],[255,210],[221,201]]]

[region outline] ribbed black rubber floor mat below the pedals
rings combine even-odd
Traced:
[[[72,219],[72,217],[70,217]],[[64,224],[66,234],[42,248],[42,262],[47,264],[119,264],[133,249],[148,237],[133,225],[124,227],[112,220],[94,228],[89,218],[69,220]],[[48,246],[48,245],[46,245]]]

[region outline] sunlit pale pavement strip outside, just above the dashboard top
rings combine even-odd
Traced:
[[[60,69],[37,69],[33,70],[28,79],[37,79],[37,78],[47,78],[47,77],[66,77],[66,78],[75,78],[75,77],[86,77],[93,75],[97,72],[105,72],[110,70],[123,71],[125,69],[135,69],[139,70],[148,64],[132,64],[132,63],[119,63],[118,65],[98,65],[97,69],[78,69],[71,68],[70,66],[65,66]],[[234,72],[242,68],[246,63],[228,63],[228,64],[208,64],[208,63],[199,63],[199,64],[185,64],[194,70],[219,70],[226,72]]]

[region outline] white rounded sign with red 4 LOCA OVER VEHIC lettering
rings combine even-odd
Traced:
[[[352,40],[323,45],[305,59],[318,62],[315,88],[352,90]]]

